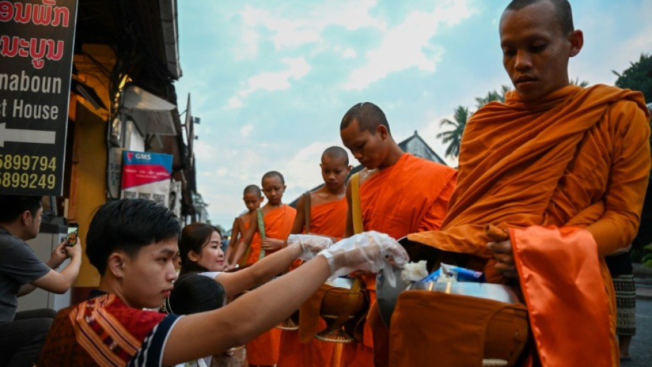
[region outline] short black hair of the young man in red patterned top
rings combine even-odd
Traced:
[[[179,219],[168,208],[145,199],[120,199],[102,205],[86,235],[86,255],[101,275],[114,251],[135,256],[141,247],[178,239]]]

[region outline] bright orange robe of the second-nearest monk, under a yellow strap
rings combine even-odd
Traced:
[[[384,232],[395,239],[413,232],[438,230],[456,177],[455,169],[405,153],[392,166],[361,182],[363,229]],[[344,345],[342,366],[373,366],[374,359],[381,366],[388,359],[387,330],[375,305],[376,277],[365,275],[363,279],[371,305],[364,340]],[[374,343],[379,344],[375,350]]]

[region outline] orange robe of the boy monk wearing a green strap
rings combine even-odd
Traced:
[[[292,230],[294,217],[297,211],[293,207],[283,205],[275,210],[265,214],[265,236],[268,238],[285,240]],[[258,261],[260,255],[261,237],[257,232],[254,237],[258,237],[258,246],[253,248],[254,241],[252,240],[251,255],[249,261],[252,264]],[[271,251],[267,251],[265,255],[269,255]],[[279,357],[279,345],[281,341],[281,330],[276,327],[272,328],[255,337],[247,343],[247,360],[249,364],[259,366],[272,366],[277,363]]]

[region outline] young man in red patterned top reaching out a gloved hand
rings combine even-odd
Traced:
[[[359,267],[379,271],[386,256],[407,261],[400,245],[375,233],[363,235],[377,239],[371,244],[326,250],[291,242],[262,262],[288,266],[319,255],[221,309],[188,316],[146,310],[159,307],[173,289],[179,234],[176,216],[151,200],[100,207],[86,240],[86,254],[101,274],[98,291],[59,311],[37,366],[173,366],[214,355],[277,325],[331,275]]]

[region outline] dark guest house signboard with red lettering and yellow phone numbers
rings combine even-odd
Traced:
[[[63,194],[77,0],[0,1],[0,194]]]

